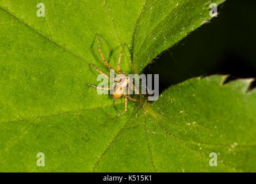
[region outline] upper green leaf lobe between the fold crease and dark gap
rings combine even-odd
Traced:
[[[133,34],[132,60],[140,72],[152,59],[211,17],[209,5],[224,1],[146,1]]]

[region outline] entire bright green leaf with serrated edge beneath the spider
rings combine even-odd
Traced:
[[[140,72],[208,20],[211,2],[44,1],[37,17],[37,1],[0,1],[0,171],[255,171],[249,81],[190,79],[120,118],[123,99],[86,86],[98,84],[90,63],[109,74],[96,33],[114,68],[127,43],[121,68]]]

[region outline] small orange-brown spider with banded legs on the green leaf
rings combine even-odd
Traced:
[[[102,89],[102,90],[111,90],[111,89],[113,89],[113,87],[116,86],[115,90],[114,90],[114,93],[113,93],[113,98],[115,100],[121,98],[122,95],[125,92],[125,89],[126,89],[127,92],[124,94],[124,97],[125,97],[125,108],[124,108],[124,111],[117,116],[117,117],[120,117],[122,114],[127,112],[127,101],[128,101],[128,99],[131,100],[131,101],[138,101],[137,99],[131,98],[129,96],[129,94],[128,94],[128,84],[130,82],[129,76],[125,76],[125,72],[122,72],[120,70],[121,56],[122,56],[122,53],[124,52],[124,48],[125,48],[126,44],[124,44],[124,47],[123,47],[123,49],[121,50],[121,52],[119,54],[119,60],[118,60],[118,63],[117,63],[117,70],[118,71],[116,71],[116,70],[114,70],[114,68],[112,66],[110,66],[110,64],[108,62],[106,62],[106,60],[105,60],[105,58],[104,58],[104,56],[103,56],[103,54],[101,52],[101,48],[100,48],[100,36],[99,36],[99,34],[97,34],[97,35],[98,35],[98,52],[100,53],[103,62],[106,64],[106,66],[108,66],[110,68],[110,70],[114,71],[114,74],[116,74],[116,75],[123,74],[123,75],[119,75],[119,77],[117,79],[116,78],[114,78],[114,79],[110,78],[108,75],[104,74],[101,70],[99,70],[93,64],[91,64],[91,66],[93,66],[93,68],[97,72],[99,72],[100,74],[104,75],[106,78],[108,78],[109,81],[114,81],[114,83],[113,83],[113,85],[111,87],[108,87],[108,88],[98,87],[98,86],[94,86],[94,85],[90,85],[90,84],[87,84],[87,85],[95,87],[96,89]],[[139,91],[136,89],[136,87],[133,85],[133,83],[132,83],[132,86],[133,86],[133,89],[132,89],[133,91],[135,91],[139,95],[142,95],[141,93],[139,93]],[[144,97],[144,95],[142,95],[142,96]]]

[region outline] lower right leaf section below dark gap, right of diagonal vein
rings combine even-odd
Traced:
[[[255,171],[256,91],[224,79],[193,78],[140,106],[93,171]]]

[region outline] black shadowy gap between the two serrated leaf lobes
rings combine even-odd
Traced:
[[[160,92],[194,76],[229,74],[227,82],[255,78],[255,11],[255,0],[227,0],[217,17],[161,53],[143,73],[159,74]]]

